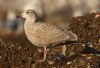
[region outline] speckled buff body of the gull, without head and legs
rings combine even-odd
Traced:
[[[77,40],[77,36],[71,31],[67,31],[55,25],[47,23],[30,23],[25,25],[25,32],[28,39],[36,46],[43,47],[50,44],[59,43],[64,40]]]

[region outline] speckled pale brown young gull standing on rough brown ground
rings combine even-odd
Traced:
[[[45,61],[47,55],[47,47],[51,44],[56,44],[65,40],[77,40],[76,34],[71,31],[67,31],[61,27],[47,24],[44,22],[36,22],[37,14],[34,10],[29,9],[23,12],[23,18],[26,18],[24,23],[24,29],[28,40],[38,46],[44,48]],[[65,55],[66,46],[62,47],[62,53]]]

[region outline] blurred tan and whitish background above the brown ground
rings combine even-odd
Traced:
[[[69,18],[100,12],[100,0],[0,0],[0,36],[24,33],[24,10],[34,9],[38,21],[69,29]]]

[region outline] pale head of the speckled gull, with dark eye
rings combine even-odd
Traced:
[[[28,18],[36,19],[37,14],[33,9],[28,9],[22,13],[22,17],[25,19],[28,19]]]

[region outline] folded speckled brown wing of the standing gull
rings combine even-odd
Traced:
[[[40,41],[40,43],[45,43],[45,45],[77,39],[77,36],[71,31],[51,24],[37,23],[33,26],[33,30],[32,34],[35,35],[34,38]]]

